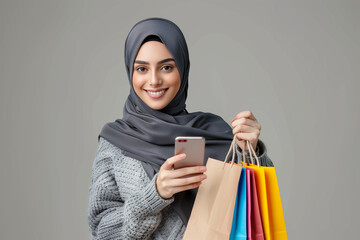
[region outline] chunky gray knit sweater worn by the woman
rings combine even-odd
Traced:
[[[261,140],[258,146],[260,164],[273,166]],[[140,161],[100,137],[87,213],[92,239],[182,239],[185,225],[170,206],[174,198],[161,198],[156,177],[149,179]]]

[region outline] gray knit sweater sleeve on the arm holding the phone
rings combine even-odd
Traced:
[[[138,191],[119,189],[113,152],[108,149],[106,142],[99,142],[92,167],[88,204],[91,235],[96,240],[147,239],[161,222],[161,210],[173,199],[162,199],[157,193],[157,175]]]

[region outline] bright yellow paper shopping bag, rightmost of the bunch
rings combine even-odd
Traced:
[[[256,153],[248,143],[251,161],[254,156],[259,162]],[[284,213],[281,204],[279,185],[274,167],[263,167],[248,164],[254,169],[261,219],[266,240],[287,240]]]

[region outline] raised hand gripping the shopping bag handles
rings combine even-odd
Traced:
[[[236,134],[236,143],[244,151],[249,151],[246,140],[256,151],[257,142],[260,135],[261,125],[258,123],[251,111],[238,113],[231,121],[233,134]]]

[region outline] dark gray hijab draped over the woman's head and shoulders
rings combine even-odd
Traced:
[[[163,109],[147,106],[135,93],[132,73],[135,57],[144,40],[157,36],[175,59],[181,86],[174,99]],[[104,125],[98,136],[120,148],[124,155],[140,160],[150,179],[166,159],[174,156],[177,136],[202,136],[206,139],[205,160],[223,160],[233,139],[232,128],[220,116],[206,112],[188,113],[186,98],[190,69],[189,53],[179,27],[163,18],[148,18],[136,23],[125,42],[125,64],[130,94],[123,109],[123,118]],[[196,196],[196,189],[175,194],[171,204],[187,224]]]

